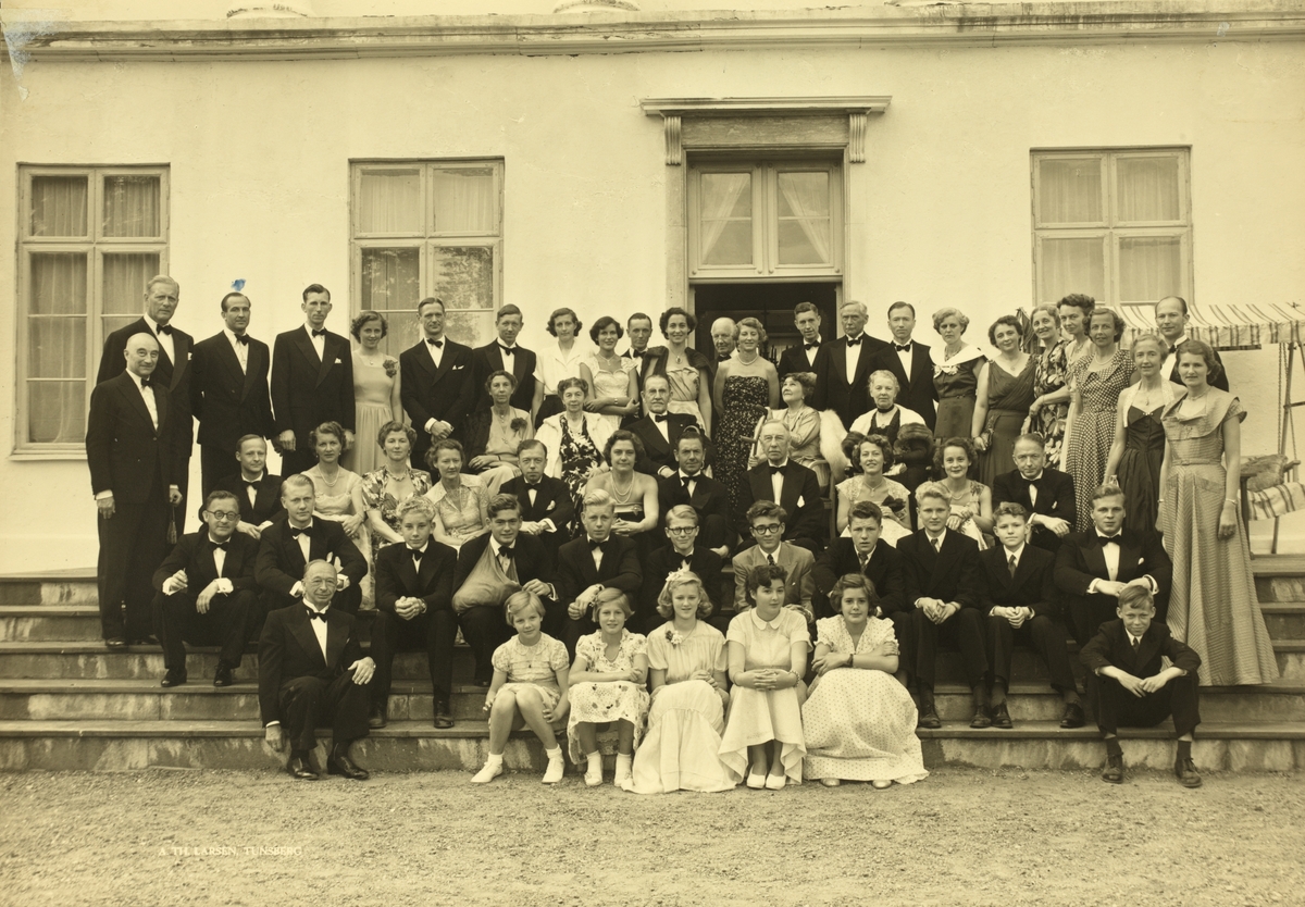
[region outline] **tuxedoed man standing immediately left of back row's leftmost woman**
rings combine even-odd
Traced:
[[[308,433],[324,422],[338,422],[346,446],[354,445],[354,352],[347,338],[326,330],[330,291],[309,284],[300,308],[304,326],[277,334],[271,347],[271,407],[282,475],[317,465]]]

